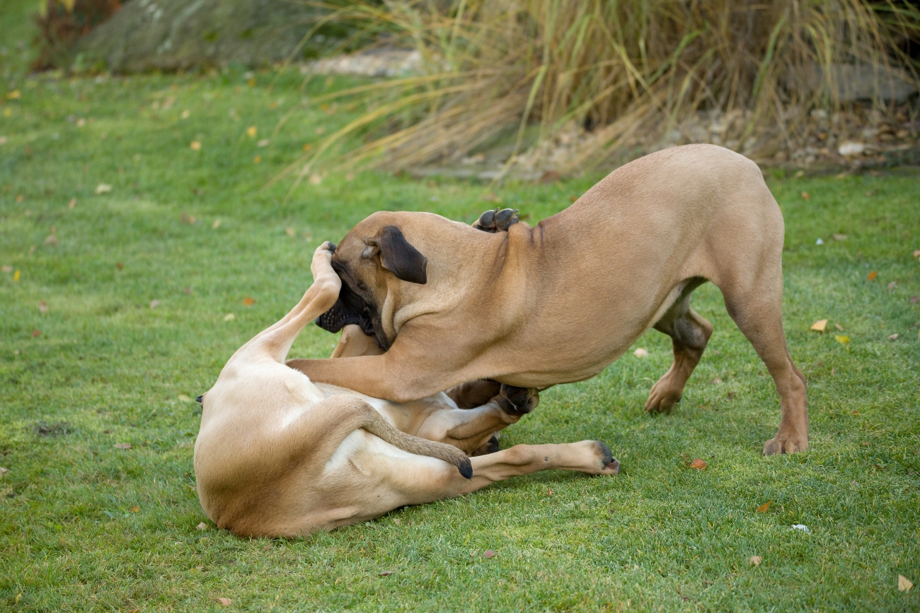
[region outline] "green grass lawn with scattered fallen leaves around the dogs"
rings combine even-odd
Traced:
[[[649,358],[545,392],[505,432],[506,446],[601,438],[618,477],[543,472],[328,534],[237,539],[198,504],[189,399],[299,299],[316,245],[374,210],[473,221],[489,190],[533,223],[599,177],[492,189],[328,175],[285,199],[289,182],[266,185],[345,120],[309,102],[343,81],[26,78],[26,6],[4,16],[0,56],[0,609],[920,608],[920,587],[897,588],[899,574],[920,585],[916,176],[769,181],[787,222],[789,346],[810,384],[807,453],[761,456],[778,397],[704,286],[695,308],[716,331],[673,414],[641,411],[671,362],[670,339],[650,332],[637,343]],[[809,330],[824,318],[828,332]],[[310,326],[292,356],[335,342]]]

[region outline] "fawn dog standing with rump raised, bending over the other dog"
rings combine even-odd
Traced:
[[[479,379],[546,388],[596,375],[654,327],[673,339],[674,362],[645,408],[668,411],[712,334],[690,308],[708,280],[776,382],[782,416],[764,453],[801,451],[808,409],[783,334],[783,232],[757,165],[713,145],[640,158],[533,228],[374,213],[339,244],[332,267],[347,289],[317,323],[359,324],[385,353],[288,365],[397,402]]]

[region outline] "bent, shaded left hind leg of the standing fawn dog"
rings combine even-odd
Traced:
[[[684,385],[693,374],[703,350],[712,335],[712,324],[690,308],[690,295],[706,279],[694,278],[686,285],[677,301],[653,326],[671,336],[674,361],[664,376],[651,387],[645,410],[649,413],[670,413],[684,395]]]

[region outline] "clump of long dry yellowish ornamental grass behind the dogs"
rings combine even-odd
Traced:
[[[301,179],[329,153],[399,170],[496,145],[502,174],[583,172],[650,142],[786,159],[857,98],[913,119],[892,102],[918,84],[920,12],[890,1],[417,1],[329,18],[387,31],[423,69],[324,99],[362,112],[288,169]]]

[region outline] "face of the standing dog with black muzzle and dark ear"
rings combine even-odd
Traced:
[[[362,235],[366,232],[363,225],[355,226],[332,256],[332,267],[342,280],[342,288],[339,300],[316,318],[316,325],[339,332],[348,324],[357,324],[365,335],[374,336],[380,348],[388,349],[394,339],[385,334],[381,320],[387,282],[396,277],[409,283],[426,283],[428,259],[408,243],[397,226],[386,225],[367,236]]]

